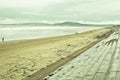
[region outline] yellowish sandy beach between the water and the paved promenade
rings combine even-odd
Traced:
[[[42,39],[0,43],[0,80],[21,80],[90,43],[99,41],[111,29],[99,29]]]

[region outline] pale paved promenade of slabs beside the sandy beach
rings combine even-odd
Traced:
[[[120,80],[119,37],[116,31],[43,80]]]

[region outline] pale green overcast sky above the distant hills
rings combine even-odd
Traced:
[[[120,0],[0,0],[0,23],[120,23]]]

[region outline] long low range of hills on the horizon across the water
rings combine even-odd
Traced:
[[[0,26],[111,26],[108,24],[83,24],[79,22],[61,22],[61,23],[17,23],[0,24]]]

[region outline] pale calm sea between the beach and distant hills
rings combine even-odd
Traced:
[[[36,39],[52,36],[82,33],[89,30],[101,29],[103,27],[87,26],[0,26],[0,39],[5,41]]]

